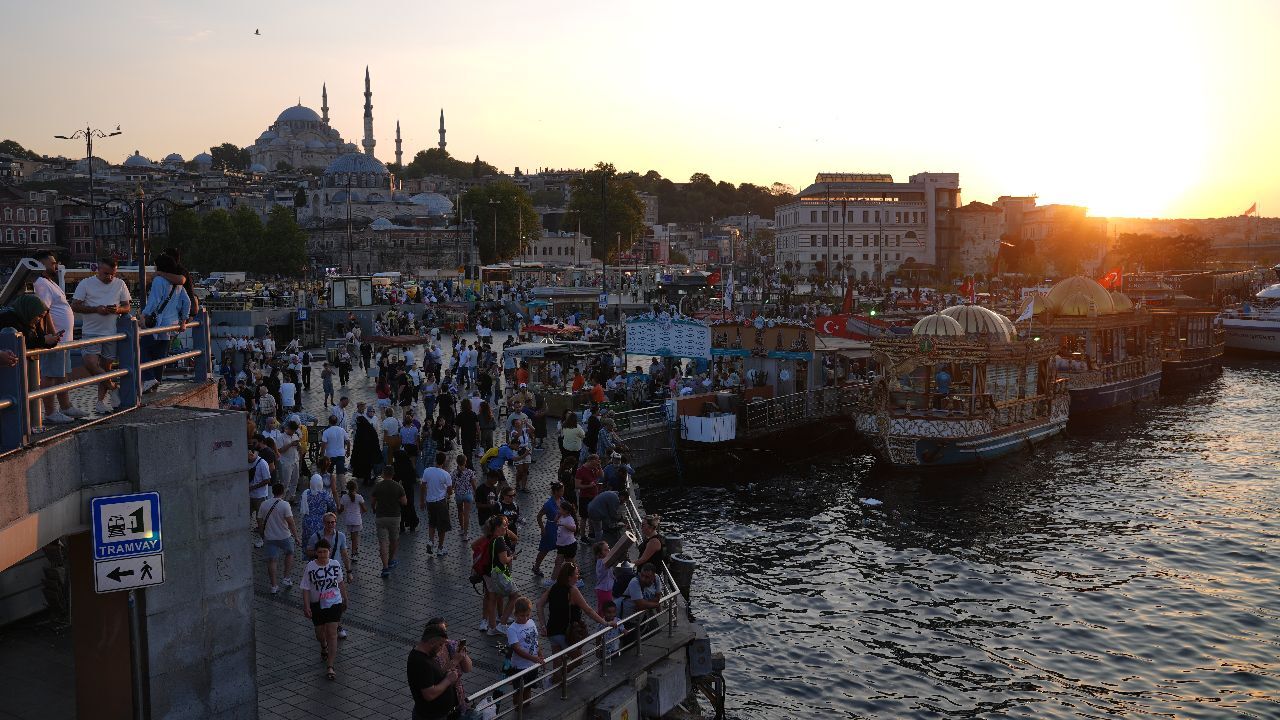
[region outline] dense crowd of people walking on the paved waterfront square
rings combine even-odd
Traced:
[[[379,318],[388,332],[412,322]],[[527,366],[504,368],[490,338],[460,336],[445,343],[448,352],[430,338],[375,348],[353,325],[339,363],[360,368],[374,386],[372,401],[355,404],[349,370],[339,375],[328,360],[296,343],[279,347],[270,336],[242,341],[221,357],[220,393],[225,407],[247,414],[255,544],[264,548],[273,593],[292,588],[294,555],[302,556],[300,603],[328,678],[337,678],[339,641],[348,633],[342,623],[349,585],[393,578],[401,538],[420,530],[425,542],[413,543],[413,552],[470,557],[471,580],[481,588],[479,626],[504,641],[518,701],[535,687],[527,669],[585,638],[588,619],[612,628],[608,646],[617,652],[635,632],[618,620],[658,607],[664,542],[657,518],[645,520],[634,566],[605,562],[625,527],[632,470],[603,402],[549,418]],[[506,346],[513,343],[508,337]],[[584,370],[594,389],[617,369],[602,355],[564,382],[585,386]],[[323,386],[320,402],[308,392],[312,380]],[[530,468],[550,442],[561,456],[557,479],[536,515],[522,516],[520,498],[534,492]],[[370,519],[374,538],[365,528]],[[529,533],[536,539],[524,539]],[[361,546],[371,542],[376,565],[369,568]],[[536,552],[531,578],[516,577],[518,552]],[[579,562],[595,564],[594,593],[584,592]],[[536,579],[543,592],[522,594]],[[465,641],[449,638],[445,619],[428,621],[407,667],[415,717],[458,716],[471,669]]]

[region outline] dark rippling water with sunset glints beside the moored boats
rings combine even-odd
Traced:
[[[837,455],[644,500],[731,717],[1280,717],[1277,470],[1251,363],[986,473]]]

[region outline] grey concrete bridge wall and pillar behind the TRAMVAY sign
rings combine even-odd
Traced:
[[[93,497],[160,493],[165,583],[142,591],[154,719],[257,716],[246,456],[242,414],[148,406],[0,461],[0,568],[86,530]]]

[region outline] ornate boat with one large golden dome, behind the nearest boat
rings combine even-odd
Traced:
[[[1123,292],[1075,275],[1048,291],[1028,331],[1056,346],[1055,364],[1078,416],[1160,395],[1164,356],[1151,323],[1151,313]]]

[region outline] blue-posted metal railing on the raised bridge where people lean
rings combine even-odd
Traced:
[[[120,405],[116,411],[90,421],[65,425],[64,432],[72,432],[138,407],[142,402],[141,378],[146,370],[191,360],[192,380],[204,383],[212,378],[212,364],[209,354],[209,313],[206,310],[201,310],[188,322],[156,328],[140,328],[134,315],[123,315],[116,320],[116,328],[122,332],[32,350],[27,350],[27,340],[22,333],[13,328],[0,331],[0,351],[13,352],[20,360],[12,368],[0,368],[0,452],[29,446],[37,439],[44,441],[64,434],[63,432],[40,433],[38,438],[36,437],[35,428],[38,428],[44,419],[41,400],[46,397],[102,382],[119,380]],[[142,360],[141,338],[188,329],[192,331],[193,350],[166,354],[155,360]],[[40,360],[42,356],[106,342],[115,343],[118,369],[40,387]]]

